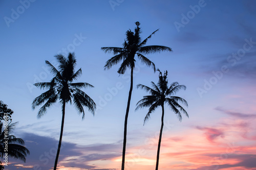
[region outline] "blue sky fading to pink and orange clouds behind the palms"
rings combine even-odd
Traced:
[[[120,64],[104,70],[112,57],[100,50],[121,47],[125,32],[141,23],[141,37],[158,32],[147,45],[165,45],[173,52],[147,55],[168,71],[168,82],[188,103],[181,122],[165,107],[159,169],[256,169],[256,2],[245,1],[0,1],[0,100],[14,111],[14,135],[30,150],[27,161],[8,159],[5,169],[52,169],[60,133],[61,106],[37,118],[31,104],[50,81],[45,61],[74,52],[79,82],[97,105],[84,120],[67,105],[58,169],[121,169],[123,124],[130,88],[129,70]],[[137,58],[136,58],[137,59]],[[125,169],[154,169],[161,109],[143,126],[147,109],[135,111],[158,72],[136,62],[128,118]],[[185,106],[184,106],[185,107]],[[3,160],[2,160],[3,162]]]

